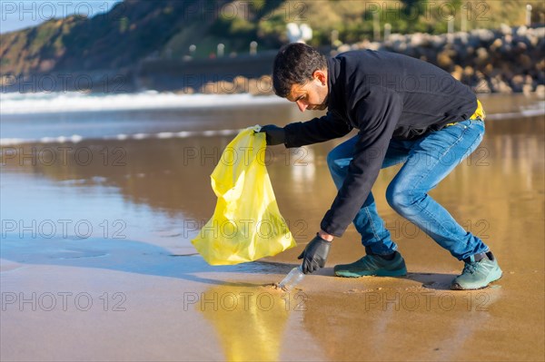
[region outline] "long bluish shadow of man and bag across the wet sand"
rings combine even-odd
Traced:
[[[0,245],[2,259],[18,264],[59,265],[78,268],[111,269],[129,273],[154,275],[166,278],[186,279],[210,285],[232,285],[237,287],[256,287],[251,282],[229,282],[220,279],[203,278],[199,273],[249,273],[249,274],[287,274],[296,264],[272,261],[254,261],[239,265],[208,265],[198,254],[174,255],[171,251],[153,244],[135,240],[104,239],[25,239],[2,240]],[[2,271],[18,269],[20,266],[5,266]],[[332,268],[324,268],[315,273],[333,276]],[[450,289],[452,274],[409,273],[401,279],[421,283],[426,289]]]

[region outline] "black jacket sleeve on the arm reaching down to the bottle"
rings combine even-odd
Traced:
[[[360,129],[359,140],[354,146],[346,179],[322,220],[325,232],[341,237],[362,208],[381,171],[401,110],[400,95],[379,87],[364,94],[355,106],[352,117]]]

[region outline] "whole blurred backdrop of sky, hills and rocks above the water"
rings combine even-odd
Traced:
[[[3,92],[271,93],[274,54],[282,44],[301,41],[324,54],[362,48],[408,54],[441,66],[479,93],[543,93],[540,1],[1,6]]]

